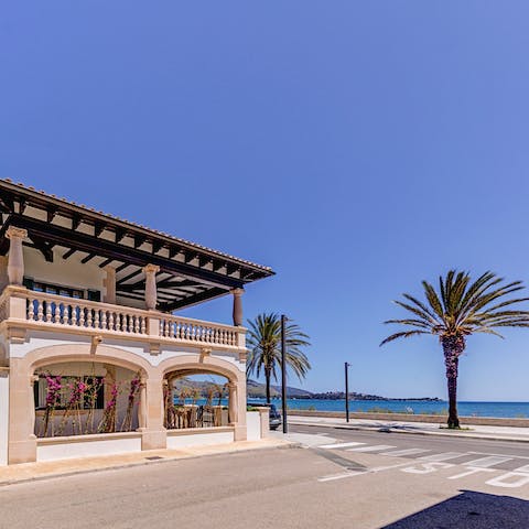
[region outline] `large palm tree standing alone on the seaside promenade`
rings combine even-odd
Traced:
[[[446,278],[439,278],[439,293],[427,281],[422,281],[427,303],[410,294],[402,294],[406,301],[395,301],[412,314],[406,320],[389,320],[412,327],[409,331],[388,336],[380,345],[397,338],[408,338],[419,334],[439,336],[444,353],[446,381],[449,389],[449,428],[460,428],[457,418],[457,367],[460,356],[465,350],[466,336],[474,333],[494,334],[497,327],[528,327],[529,311],[514,311],[510,305],[528,301],[529,298],[505,300],[505,296],[522,290],[521,281],[504,283],[493,272],[485,272],[475,282],[471,282],[467,272],[451,270]],[[506,310],[506,307],[509,307]]]

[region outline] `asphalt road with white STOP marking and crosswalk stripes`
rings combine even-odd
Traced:
[[[525,445],[296,430],[317,442],[1,487],[0,528],[529,527]]]

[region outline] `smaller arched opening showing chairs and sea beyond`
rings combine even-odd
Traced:
[[[168,430],[218,428],[235,422],[229,406],[230,379],[207,369],[179,369],[164,378],[164,427]],[[233,397],[231,397],[233,398]]]

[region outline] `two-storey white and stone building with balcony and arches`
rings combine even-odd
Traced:
[[[0,465],[248,439],[242,294],[271,269],[8,180],[0,215]],[[175,314],[220,295],[231,325]],[[197,374],[226,384],[179,402]]]

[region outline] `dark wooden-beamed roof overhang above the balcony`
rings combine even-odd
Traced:
[[[166,312],[224,295],[274,273],[268,267],[6,180],[0,180],[0,255],[9,249],[7,228],[24,228],[24,244],[41,251],[47,261],[57,255],[64,260],[76,255],[83,263],[116,268],[117,295],[125,300],[142,300],[142,268],[159,266],[159,309]]]

